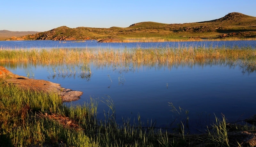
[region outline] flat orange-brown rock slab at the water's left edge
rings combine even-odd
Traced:
[[[28,79],[24,76],[19,76],[8,71],[0,66],[0,79],[8,84],[13,84],[17,87],[30,89],[35,91],[43,91],[47,93],[57,93],[61,96],[63,102],[76,101],[83,94],[81,91],[74,91],[67,88],[62,88],[60,84],[45,80]]]

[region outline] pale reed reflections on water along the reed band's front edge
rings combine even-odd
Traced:
[[[128,73],[128,72],[140,72],[143,69],[151,69],[154,68],[156,70],[171,70],[172,68],[193,68],[193,67],[211,67],[211,66],[221,66],[227,68],[235,68],[240,67],[240,70],[243,74],[250,74],[256,71],[256,64],[254,60],[208,60],[208,61],[195,61],[195,62],[172,62],[172,63],[143,63],[143,64],[134,64],[134,63],[99,63],[99,62],[90,62],[90,63],[81,63],[81,64],[58,64],[58,65],[44,65],[41,63],[32,64],[32,63],[8,63],[8,64],[0,64],[0,66],[4,66],[9,69],[21,68],[24,70],[26,76],[28,78],[34,79],[35,75],[33,71],[36,68],[47,68],[47,72],[49,76],[48,79],[59,79],[59,78],[80,78],[85,79],[86,81],[90,81],[91,76],[93,75],[91,68],[99,70],[99,69],[107,69],[110,71],[118,72],[119,74]],[[108,75],[109,79],[111,77]],[[118,77],[118,81],[122,83],[124,80],[123,75]],[[111,81],[112,82],[112,81]]]

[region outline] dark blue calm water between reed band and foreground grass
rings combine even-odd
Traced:
[[[89,63],[91,74],[79,71],[81,66],[20,66],[7,69],[15,74],[28,76],[29,73],[31,78],[52,81],[84,92],[81,99],[73,104],[83,104],[91,97],[99,101],[110,97],[120,123],[122,118],[137,118],[139,114],[144,122],[152,120],[158,127],[170,127],[177,116],[171,111],[170,103],[176,108],[183,108],[184,111],[180,112],[182,117],[186,116],[185,110],[189,110],[189,121],[193,125],[213,121],[214,114],[224,114],[230,122],[255,114],[252,110],[256,105],[256,74],[244,71],[238,63],[169,67],[95,66]],[[69,72],[68,68],[76,69],[76,74]],[[104,110],[108,109],[106,104],[100,102],[99,118],[103,118]]]

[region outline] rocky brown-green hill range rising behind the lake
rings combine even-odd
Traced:
[[[117,38],[118,40],[140,38],[185,40],[256,38],[256,17],[232,12],[215,20],[184,24],[140,22],[126,28],[69,28],[61,26],[50,31],[8,40],[85,40],[105,38]]]

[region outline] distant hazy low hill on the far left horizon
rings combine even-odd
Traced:
[[[35,33],[38,33],[38,32],[35,32],[35,31],[20,32],[20,31],[0,30],[0,39],[7,39],[7,38],[11,38],[11,37],[13,37],[13,39],[14,39],[15,37],[21,37],[21,36],[25,36],[28,34],[35,34]]]

